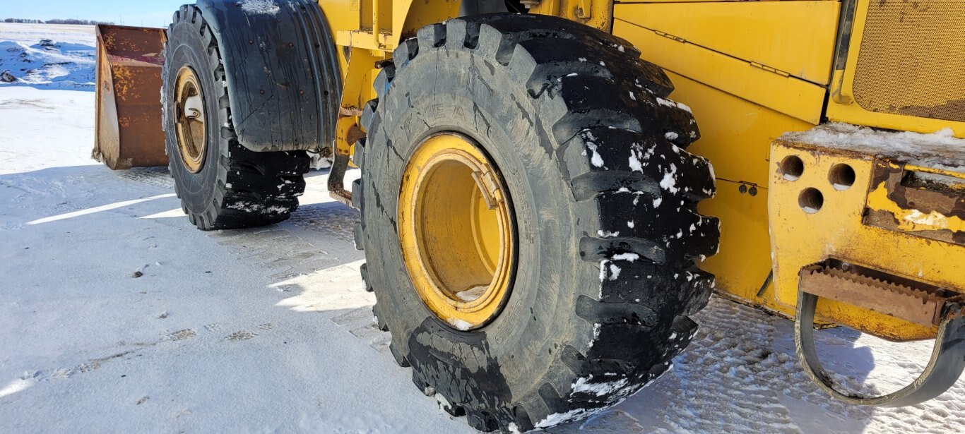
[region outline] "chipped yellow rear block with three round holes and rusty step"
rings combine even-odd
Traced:
[[[775,142],[771,151],[773,170],[768,214],[777,287],[774,300],[782,306],[795,306],[799,271],[826,258],[861,264],[937,287],[960,289],[965,283],[965,267],[961,266],[965,263],[962,218],[952,214],[953,204],[944,209],[931,208],[931,203],[942,207],[941,201],[922,200],[920,205],[912,204],[919,200],[914,195],[920,198],[951,195],[930,191],[924,186],[902,185],[902,179],[908,178],[907,173],[924,168],[849,149],[846,142],[815,145],[808,137],[788,134]],[[804,170],[799,176],[783,173],[782,162],[786,158],[799,158],[803,163],[800,166]],[[850,185],[836,181],[836,169],[841,167],[853,171],[846,182]],[[944,170],[935,173],[952,179],[951,185],[965,185],[965,174]],[[895,176],[887,176],[890,174]],[[809,194],[820,198],[816,209]],[[904,203],[906,198],[910,200]],[[871,291],[873,288],[869,296],[889,295]],[[816,313],[834,323],[885,339],[935,337],[937,318],[927,317],[916,324],[883,313],[897,308],[879,306],[878,312],[869,312],[822,298]]]

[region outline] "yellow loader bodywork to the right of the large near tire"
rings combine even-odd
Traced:
[[[959,72],[925,76],[916,75],[920,72],[912,69],[926,60],[934,62],[940,51],[961,52],[965,47],[965,33],[961,31],[965,21],[948,18],[961,15],[960,6],[955,12],[946,8],[942,14],[910,16],[909,20],[917,22],[902,25],[897,19],[902,10],[892,10],[891,19],[882,16],[878,3],[861,0],[855,4],[851,39],[841,42],[846,42],[847,59],[837,64],[835,51],[842,8],[837,1],[647,1],[616,5],[614,34],[633,42],[644,59],[669,72],[676,85],[672,96],[694,110],[701,126],[702,138],[691,149],[710,158],[718,181],[717,196],[703,203],[701,211],[719,217],[722,227],[720,253],[708,258],[703,267],[717,276],[720,292],[792,316],[798,270],[835,255],[864,261],[898,276],[963,289],[962,246],[869,228],[856,218],[870,201],[869,168],[873,155],[852,154],[851,158],[857,160],[849,161],[855,166],[858,183],[848,191],[838,192],[829,184],[827,171],[845,157],[821,146],[801,143],[779,142],[772,150],[772,143],[785,132],[808,130],[828,119],[922,133],[951,128],[957,137],[965,137],[962,112],[945,110],[952,117],[959,116],[957,120],[910,116],[915,110],[905,110],[907,114],[885,113],[874,107],[869,110],[868,104],[862,105],[854,97],[855,83],[869,80],[860,74],[855,78],[856,71],[868,73],[866,57],[882,58],[883,51],[896,49],[906,51],[891,55],[896,62],[880,62],[878,71],[886,70],[887,74],[888,65],[912,71],[907,74],[914,80],[912,85],[919,90],[941,88],[943,91],[928,93],[937,94],[938,98],[946,90],[946,94],[961,93],[961,81],[957,85],[947,82],[950,76],[961,80]],[[893,33],[866,29],[869,15],[876,18],[874,24],[878,26],[888,23]],[[927,29],[934,30],[947,22],[951,30],[936,32],[942,35],[939,42],[924,44],[925,35],[916,30],[923,21],[938,21]],[[877,40],[863,38],[866,34]],[[898,39],[904,42],[895,44]],[[922,45],[927,48],[924,53]],[[951,46],[958,46],[958,51]],[[909,56],[917,62],[904,60]],[[961,60],[959,56],[951,63]],[[942,68],[948,67],[951,65]],[[831,98],[832,92],[837,97]],[[861,92],[869,93],[864,89]],[[952,97],[923,103],[957,107]],[[826,99],[829,102],[824,112]],[[916,112],[927,113],[925,109]],[[813,183],[822,191],[830,190],[825,194],[825,207],[816,214],[802,212],[798,203],[800,188],[786,188],[784,179],[773,181],[773,158],[783,155],[790,146],[808,148],[811,160],[806,166],[818,167],[800,184]],[[775,183],[781,188],[772,188]],[[882,249],[883,245],[888,248]],[[916,325],[830,300],[819,302],[817,314],[826,321],[887,339],[925,339],[935,335],[930,325]]]

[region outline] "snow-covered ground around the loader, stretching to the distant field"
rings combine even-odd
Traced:
[[[3,46],[41,39],[94,46],[93,27],[0,24]],[[472,432],[388,353],[359,279],[358,213],[328,198],[324,175],[290,221],[197,231],[166,170],[90,159],[94,94],[57,83],[85,73],[0,84],[0,431]],[[663,378],[550,431],[965,432],[965,382],[915,407],[845,406],[800,371],[786,319],[719,297],[696,319]],[[817,336],[865,392],[905,385],[930,352]]]

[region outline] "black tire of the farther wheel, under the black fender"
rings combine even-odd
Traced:
[[[248,228],[281,222],[305,191],[310,158],[304,150],[255,152],[234,135],[225,70],[217,41],[201,11],[181,6],[168,27],[161,72],[165,150],[181,209],[198,229]],[[204,91],[207,146],[197,173],[187,169],[175,133],[175,83],[182,67],[194,69]]]

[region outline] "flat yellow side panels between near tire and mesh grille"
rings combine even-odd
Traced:
[[[785,2],[782,2],[785,3]],[[776,4],[776,3],[775,3]],[[837,15],[825,5],[834,2],[787,2],[780,19],[791,20],[790,14],[808,12],[814,20],[823,22],[824,31],[834,34]],[[796,4],[796,6],[795,6]],[[781,5],[779,5],[781,6]],[[654,7],[664,7],[657,15]],[[803,131],[820,120],[821,105],[826,90],[814,83],[782,75],[781,73],[752,65],[749,59],[738,59],[731,53],[709,49],[702,44],[680,41],[673,32],[691,32],[704,43],[725,49],[739,44],[739,38],[712,41],[710,33],[687,28],[690,14],[704,7],[714,11],[749,11],[744,3],[718,3],[714,5],[617,5],[615,9],[614,34],[627,39],[643,51],[643,59],[667,70],[676,91],[671,97],[691,107],[701,128],[701,140],[689,150],[710,158],[717,177],[717,196],[701,203],[700,211],[721,220],[721,247],[717,255],[707,258],[703,269],[717,276],[717,288],[745,303],[763,307],[769,311],[794,314],[793,306],[777,303],[773,285],[768,285],[771,272],[770,237],[767,232],[767,179],[770,142],[786,131]],[[659,16],[650,20],[648,14]],[[708,20],[712,18],[706,15]],[[668,21],[674,27],[663,27]],[[807,18],[794,15],[793,20],[807,22]],[[631,21],[633,22],[631,24]],[[763,27],[768,27],[766,20]],[[661,26],[648,29],[636,25]],[[750,25],[751,21],[744,21]],[[720,23],[724,32],[726,23]],[[734,26],[736,28],[737,26]],[[810,29],[813,30],[813,29]],[[800,31],[808,32],[809,28]],[[694,33],[696,32],[696,33]],[[765,45],[779,50],[782,45],[759,42],[754,29],[746,29],[744,42],[756,47],[744,48],[742,52],[752,55],[764,53]],[[661,35],[663,34],[663,35]],[[692,37],[693,38],[693,37]],[[802,50],[813,54],[807,64],[821,62],[831,65],[833,39],[827,36],[815,38],[808,45],[807,37],[795,39],[786,36],[786,43],[801,45]],[[820,42],[814,42],[820,41]],[[770,44],[770,45],[769,45]],[[731,55],[728,55],[731,54]],[[758,59],[778,59],[759,54]],[[823,60],[817,57],[823,57]],[[805,64],[800,64],[805,65]],[[816,70],[816,68],[814,69]],[[825,75],[827,72],[825,72]],[[742,97],[736,96],[740,95]],[[753,190],[752,190],[753,187]],[[743,190],[743,192],[741,192]],[[751,192],[756,192],[755,196]]]

